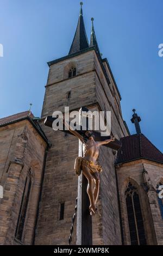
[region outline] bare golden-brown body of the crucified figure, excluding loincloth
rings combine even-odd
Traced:
[[[64,119],[64,124],[68,128],[68,130],[73,133],[73,135],[75,135],[80,139],[80,141],[82,141],[82,143],[84,144],[83,159],[89,161],[90,163],[93,162],[94,164],[97,164],[99,147],[101,145],[108,144],[115,140],[114,137],[111,137],[111,139],[106,139],[105,141],[102,141],[102,142],[95,142],[92,132],[86,131],[85,135],[87,137],[87,141],[84,142],[83,136],[80,135],[77,131],[71,130],[70,126],[66,123],[65,119]],[[96,203],[97,203],[98,194],[99,194],[99,182],[100,182],[99,173],[98,171],[95,173],[91,173],[91,168],[87,167],[84,161],[82,161],[82,171],[88,181],[87,194],[90,199],[89,209],[90,209],[90,214],[93,215],[97,211]],[[93,190],[93,182],[95,182],[94,190]]]

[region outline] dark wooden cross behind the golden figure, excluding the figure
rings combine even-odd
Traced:
[[[83,112],[87,112],[89,109],[82,107],[79,110],[79,125],[80,129],[77,129],[81,135],[84,135],[82,129],[82,116]],[[47,117],[44,121],[46,126],[52,127],[53,121],[56,118]],[[88,125],[88,118],[86,119],[86,128]],[[63,127],[63,131],[66,133],[72,133]],[[101,136],[100,132],[93,131],[95,135],[95,141],[104,141],[105,139],[109,139],[110,136]],[[104,144],[105,147],[109,147],[115,150],[121,148],[121,142],[118,139],[115,139],[114,142],[110,142],[109,144]],[[79,140],[79,153],[78,156],[83,156],[83,143]],[[87,195],[87,179],[83,174],[78,177],[78,205],[77,205],[77,245],[92,245],[92,216],[89,212],[90,200]]]

